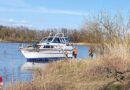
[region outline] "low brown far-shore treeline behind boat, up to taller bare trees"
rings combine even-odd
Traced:
[[[49,33],[62,32],[65,36],[70,38],[71,42],[97,42],[92,40],[94,36],[86,30],[70,30],[66,28],[62,29],[47,29],[47,30],[30,30],[28,28],[19,27],[7,27],[0,26],[0,41],[2,42],[39,42],[43,37],[49,35]],[[101,41],[101,40],[99,40]],[[98,42],[99,42],[98,41]]]

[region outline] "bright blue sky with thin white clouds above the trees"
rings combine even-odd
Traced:
[[[0,0],[0,25],[79,29],[104,10],[127,15],[130,0]]]

